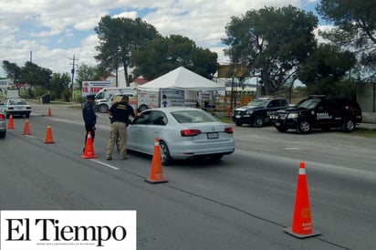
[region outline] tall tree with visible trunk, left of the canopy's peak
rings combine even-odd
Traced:
[[[128,66],[131,62],[131,51],[144,47],[145,43],[160,36],[154,26],[141,18],[111,18],[103,16],[99,25],[94,28],[99,37],[99,60],[101,68],[109,71],[124,68],[124,77],[129,87]]]

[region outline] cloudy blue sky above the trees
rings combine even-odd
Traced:
[[[0,62],[8,60],[22,67],[30,59],[53,72],[70,72],[76,62],[94,66],[98,37],[94,27],[105,15],[141,17],[155,26],[162,36],[187,36],[198,47],[218,53],[220,63],[228,60],[225,25],[231,16],[264,6],[294,5],[315,13],[317,0],[0,0]],[[5,73],[0,68],[0,77]]]

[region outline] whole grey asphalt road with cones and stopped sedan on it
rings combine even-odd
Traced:
[[[99,114],[95,160],[81,159],[79,109],[34,105],[0,140],[0,209],[137,210],[138,249],[375,249],[376,140],[341,132],[283,134],[235,128],[236,151],[222,161],[177,161],[168,183],[144,182],[151,157],[105,161],[109,120]],[[44,144],[47,124],[54,144]],[[298,164],[306,162],[313,227],[291,225]]]

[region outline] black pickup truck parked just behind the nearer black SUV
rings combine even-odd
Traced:
[[[269,123],[269,116],[279,110],[287,109],[288,102],[284,98],[258,98],[248,102],[244,107],[234,110],[233,120],[236,126],[243,124],[253,124],[260,128],[264,124]]]

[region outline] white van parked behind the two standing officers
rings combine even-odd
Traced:
[[[108,112],[112,105],[112,98],[120,93],[136,96],[136,92],[133,88],[103,88],[95,95],[96,110],[100,113]]]

